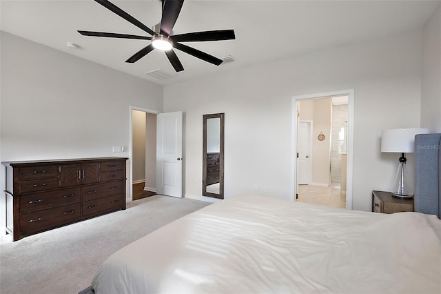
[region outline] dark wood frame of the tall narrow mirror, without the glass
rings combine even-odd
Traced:
[[[224,122],[225,113],[203,115],[203,160],[202,160],[202,195],[223,199],[223,164],[224,164]],[[207,192],[207,119],[220,119],[220,146],[219,146],[219,194]]]

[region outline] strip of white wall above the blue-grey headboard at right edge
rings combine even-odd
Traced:
[[[421,126],[441,133],[441,4],[424,26]]]

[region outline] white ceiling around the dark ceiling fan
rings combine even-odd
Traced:
[[[161,19],[161,2],[158,0],[111,2],[146,26],[152,27]],[[174,72],[165,54],[156,50],[136,63],[124,62],[150,41],[84,37],[76,32],[95,30],[147,35],[92,0],[1,0],[0,28],[142,79],[172,84],[311,50],[422,28],[438,4],[440,1],[423,0],[186,0],[174,26],[174,34],[234,29],[236,40],[186,44],[218,58],[231,55],[236,61],[214,66],[175,50],[185,68],[178,73]],[[68,48],[67,42],[76,43],[80,48]],[[174,77],[161,81],[145,75],[145,72],[158,69]]]

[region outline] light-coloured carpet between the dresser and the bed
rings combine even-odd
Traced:
[[[209,205],[156,195],[70,226],[0,242],[0,293],[79,293],[109,255],[179,217]]]

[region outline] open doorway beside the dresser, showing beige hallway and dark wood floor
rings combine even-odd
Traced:
[[[130,200],[156,195],[156,115],[130,108]]]

